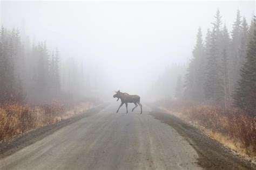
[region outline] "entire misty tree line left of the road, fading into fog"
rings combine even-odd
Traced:
[[[31,45],[29,37],[22,39],[18,29],[8,30],[2,26],[0,104],[44,103],[71,95],[81,96],[89,80],[83,65],[78,63],[73,58],[60,62],[58,48],[50,51],[46,41]]]

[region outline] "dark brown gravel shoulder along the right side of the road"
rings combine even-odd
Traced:
[[[198,165],[204,169],[256,169],[252,162],[234,155],[218,141],[208,137],[196,127],[166,111],[147,104],[152,109],[150,115],[160,122],[172,126],[198,153]]]

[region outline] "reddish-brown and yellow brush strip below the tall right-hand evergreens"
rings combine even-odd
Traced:
[[[174,113],[181,113],[178,117],[203,126],[210,137],[233,150],[251,157],[256,156],[256,117],[247,116],[238,109],[222,109],[211,105],[178,101],[159,104]]]

